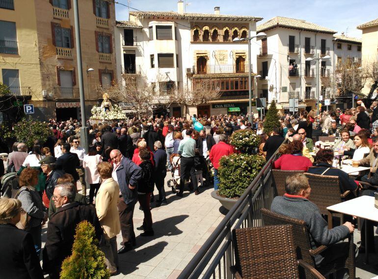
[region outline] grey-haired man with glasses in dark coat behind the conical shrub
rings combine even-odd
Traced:
[[[75,196],[74,184],[55,186],[53,199],[57,211],[49,221],[43,250],[43,270],[49,273],[51,279],[59,279],[63,260],[72,254],[75,229],[81,221],[86,220],[93,225],[98,240],[103,235],[96,209],[74,202]]]

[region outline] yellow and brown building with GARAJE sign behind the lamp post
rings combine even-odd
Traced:
[[[81,118],[73,0],[0,1],[0,81],[31,96],[33,117]],[[114,3],[79,2],[86,114],[116,79]],[[15,89],[13,89],[15,88]],[[18,88],[18,89],[17,89]]]

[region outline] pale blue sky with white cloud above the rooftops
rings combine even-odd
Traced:
[[[117,1],[128,4],[128,0]],[[357,38],[362,33],[355,27],[378,17],[378,0],[185,0],[185,3],[190,13],[214,13],[214,7],[220,6],[221,14],[263,17],[260,23],[275,16],[302,19]],[[130,6],[142,11],[177,12],[177,0],[130,0]],[[115,12],[117,20],[128,20],[127,7],[116,4]]]

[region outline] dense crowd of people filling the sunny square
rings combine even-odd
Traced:
[[[47,126],[53,136],[47,141],[35,139],[33,146],[15,142],[8,154],[7,172],[17,172],[20,188],[15,199],[0,199],[0,235],[10,239],[6,247],[12,241],[22,243],[17,248],[22,251],[13,248],[11,253],[17,254],[17,259],[3,253],[0,267],[12,266],[7,269],[9,278],[16,270],[18,278],[43,278],[43,272],[52,279],[59,278],[62,261],[71,254],[75,228],[87,220],[101,240],[108,269],[117,274],[118,254],[135,247],[135,229],[143,231],[142,237],[154,235],[151,207],[168,203],[164,186],[167,173],[173,177],[178,171],[179,198],[184,196],[184,190],[199,195],[205,186],[218,189],[219,160],[236,152],[228,141],[239,129],[256,130],[261,140],[258,152],[267,161],[279,149],[281,156],[273,163],[274,168],[336,175],[340,177],[340,190],[357,189],[357,179],[378,185],[377,104],[374,102],[368,110],[357,107],[321,115],[316,115],[315,110],[301,111],[298,116],[287,114],[280,118],[281,127],[274,127],[270,134],[264,132],[265,119],[256,118],[249,123],[245,116],[231,115],[88,123],[88,150],[80,147],[85,137],[81,137],[77,120],[50,120]],[[351,179],[334,166],[333,150],[320,150],[314,158],[312,152],[318,143],[313,139],[328,135],[337,138],[334,149],[340,158],[370,165],[371,175]],[[290,193],[299,190],[292,189]],[[372,195],[374,191],[366,189],[362,194]],[[134,228],[137,202],[144,219],[142,226]],[[23,220],[25,216],[27,220]],[[47,241],[42,249],[41,230],[46,222]],[[19,230],[22,223],[27,227]],[[351,230],[351,226],[348,228]],[[117,250],[119,233],[122,246]],[[12,235],[17,237],[11,239]],[[7,249],[5,246],[1,247]]]

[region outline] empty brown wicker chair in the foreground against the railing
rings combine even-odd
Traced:
[[[297,260],[291,225],[234,229],[233,244],[236,265],[230,269],[236,279],[324,278]]]

